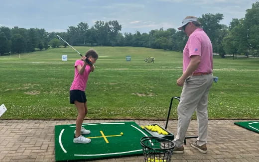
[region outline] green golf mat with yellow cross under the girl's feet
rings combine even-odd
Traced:
[[[73,143],[75,124],[55,126],[56,162],[142,155],[140,138],[151,136],[135,122],[90,123],[83,124],[82,127],[91,131],[89,135],[84,135],[91,138],[89,144]]]

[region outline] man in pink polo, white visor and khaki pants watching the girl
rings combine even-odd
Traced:
[[[189,39],[183,50],[183,74],[177,80],[177,85],[183,89],[177,107],[178,127],[173,152],[184,152],[185,134],[196,111],[199,135],[191,146],[207,153],[208,94],[213,82],[212,44],[195,16],[187,16],[178,29],[183,30]]]

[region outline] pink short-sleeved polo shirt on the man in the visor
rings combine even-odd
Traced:
[[[201,56],[199,67],[194,73],[212,73],[213,70],[213,52],[212,44],[208,35],[202,28],[197,28],[189,36],[189,39],[183,50],[183,72],[186,71],[191,61],[191,56]]]

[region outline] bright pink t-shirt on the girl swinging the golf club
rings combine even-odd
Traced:
[[[87,80],[88,80],[88,76],[91,72],[91,67],[89,65],[86,66],[85,71],[82,75],[79,74],[78,70],[77,70],[77,66],[81,65],[83,67],[84,65],[84,61],[82,60],[77,60],[75,62],[75,77],[74,77],[74,81],[72,82],[72,85],[70,87],[70,90],[82,90],[85,91],[86,89],[86,84],[87,84]]]

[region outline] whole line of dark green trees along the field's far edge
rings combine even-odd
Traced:
[[[229,26],[220,24],[224,15],[206,13],[198,20],[212,41],[213,52],[222,57],[259,55],[259,2],[246,10],[244,18],[233,18]],[[174,28],[151,30],[148,33],[121,33],[122,25],[117,20],[96,21],[90,27],[87,22],[69,26],[67,32],[46,32],[38,28],[0,27],[0,55],[7,53],[33,52],[67,46],[57,39],[60,35],[72,46],[133,46],[172,51],[182,51],[188,37]]]

